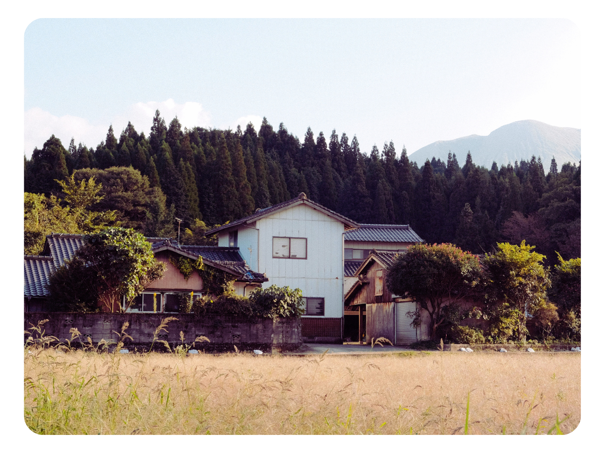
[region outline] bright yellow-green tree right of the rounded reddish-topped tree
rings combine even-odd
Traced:
[[[525,341],[527,316],[544,306],[551,286],[548,269],[541,264],[545,255],[533,248],[525,240],[520,245],[498,243],[496,252],[483,261],[489,300],[514,318],[517,341]]]

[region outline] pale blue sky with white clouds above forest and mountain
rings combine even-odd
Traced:
[[[24,32],[24,153],[110,124],[333,129],[408,153],[519,120],[581,128],[568,19],[36,19]]]

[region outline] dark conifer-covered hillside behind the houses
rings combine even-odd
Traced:
[[[551,265],[555,251],[581,257],[581,161],[558,172],[552,159],[545,172],[540,158],[490,169],[474,165],[470,152],[462,159],[462,167],[455,154],[419,167],[392,141],[368,155],[355,136],[335,130],[315,137],[307,129],[301,143],[266,119],[258,132],[252,124],[183,132],[177,118],[166,126],[156,112],[149,137],[128,123],[119,138],[110,126],[94,149],[73,140],[65,149],[53,135],[30,160],[24,156],[24,192],[63,199],[55,179],[94,176],[103,199],[90,210],[116,210],[117,221],[148,236],[175,234],[174,217],[194,230],[304,192],[357,222],[409,223],[430,243],[480,253],[525,239]]]

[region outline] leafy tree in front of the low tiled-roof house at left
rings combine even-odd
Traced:
[[[155,260],[151,243],[129,228],[108,228],[83,236],[76,257],[91,269],[91,291],[103,311],[121,312],[152,281],[162,277],[165,264]]]

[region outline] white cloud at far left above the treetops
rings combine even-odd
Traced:
[[[34,107],[23,114],[23,151],[31,158],[34,148],[42,148],[51,135],[59,138],[65,147],[69,146],[71,137],[76,143],[96,146],[105,138],[108,128],[109,125],[94,126],[85,118],[72,115],[56,117]]]

